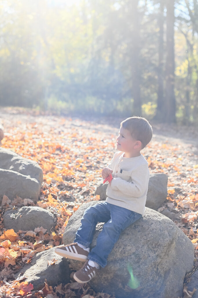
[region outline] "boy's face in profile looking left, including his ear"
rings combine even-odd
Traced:
[[[121,127],[117,137],[117,149],[123,152],[141,150],[141,142],[134,139],[128,129]]]

